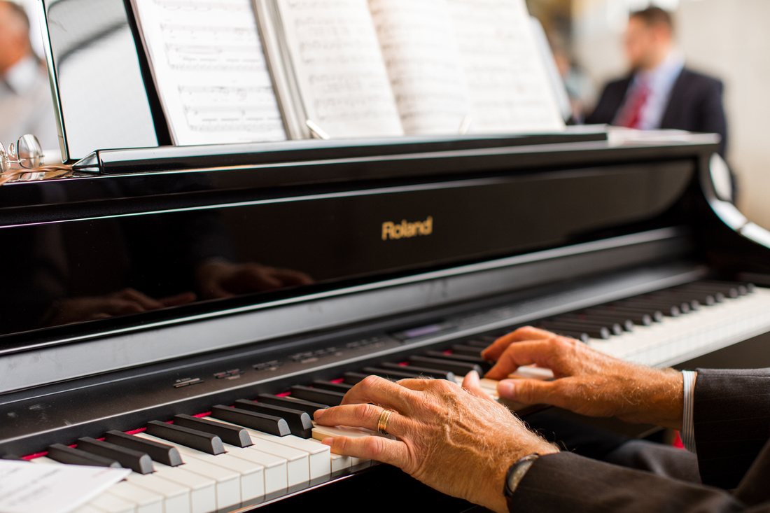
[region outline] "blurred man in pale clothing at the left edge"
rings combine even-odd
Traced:
[[[32,52],[24,8],[0,0],[0,142],[37,136],[44,149],[58,149],[51,86]]]

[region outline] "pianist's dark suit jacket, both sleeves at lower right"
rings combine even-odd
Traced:
[[[701,485],[562,452],[538,459],[511,511],[770,510],[770,369],[698,370]]]

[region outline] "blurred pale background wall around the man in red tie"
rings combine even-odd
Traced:
[[[527,0],[556,46],[601,92],[627,72],[622,52],[628,12],[656,5],[675,12],[678,43],[691,68],[725,82],[728,162],[738,206],[770,228],[770,20],[768,0]]]

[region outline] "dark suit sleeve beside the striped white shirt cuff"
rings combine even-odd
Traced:
[[[770,369],[698,369],[694,398],[701,479],[735,488],[770,437]]]

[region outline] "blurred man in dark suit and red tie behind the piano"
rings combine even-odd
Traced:
[[[631,13],[625,53],[631,74],[604,88],[586,122],[718,133],[719,153],[724,156],[727,122],[722,83],[685,67],[685,59],[674,47],[671,14],[657,7]]]

